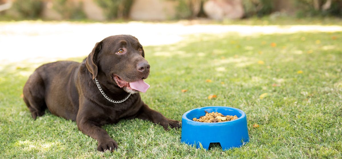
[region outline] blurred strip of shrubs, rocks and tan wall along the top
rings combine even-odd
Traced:
[[[215,20],[342,16],[342,0],[0,0],[1,20]]]

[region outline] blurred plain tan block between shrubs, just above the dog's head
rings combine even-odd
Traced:
[[[135,0],[129,17],[133,20],[169,20],[176,15],[174,0]]]

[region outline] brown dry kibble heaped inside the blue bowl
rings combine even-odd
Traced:
[[[203,123],[218,123],[218,122],[227,122],[237,119],[238,117],[236,115],[223,115],[219,112],[207,112],[205,116],[200,116],[199,118],[194,117],[193,121],[196,122],[203,122]]]

